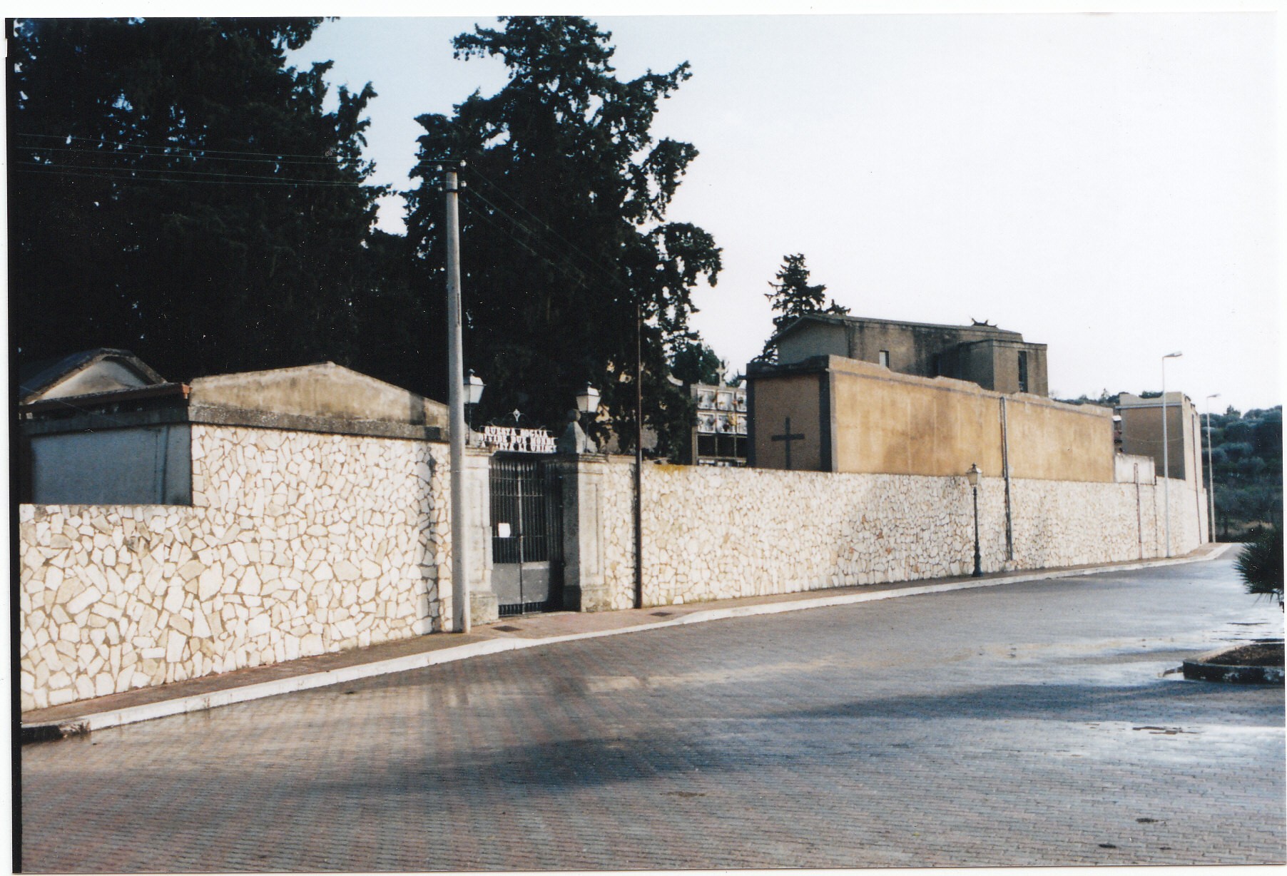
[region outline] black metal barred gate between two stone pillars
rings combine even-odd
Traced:
[[[492,563],[502,617],[562,606],[562,477],[556,461],[492,457]]]

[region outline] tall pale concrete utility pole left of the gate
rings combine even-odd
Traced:
[[[463,167],[465,162],[459,162]],[[452,450],[452,605],[456,632],[470,632],[470,580],[465,531],[465,364],[461,342],[461,217],[458,180],[447,171],[447,406]]]

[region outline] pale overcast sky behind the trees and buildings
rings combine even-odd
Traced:
[[[692,323],[735,370],[803,252],[855,315],[1049,345],[1051,395],[1156,390],[1180,350],[1167,388],[1199,409],[1281,404],[1272,15],[595,21],[623,78],[692,64],[654,130],[700,152],[669,219],[723,247]],[[350,17],[295,54],[375,85],[376,181],[409,188],[416,114],[505,81],[452,58],[475,22],[494,19]]]

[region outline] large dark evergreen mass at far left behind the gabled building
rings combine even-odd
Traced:
[[[319,21],[13,23],[19,356],[127,347],[171,379],[362,365],[389,250],[360,156],[375,91],[341,87],[328,113],[329,63],[286,66]]]

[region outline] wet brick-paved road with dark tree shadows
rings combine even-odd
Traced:
[[[521,623],[521,621],[519,621]],[[479,657],[23,750],[30,871],[1284,859],[1227,560]]]

